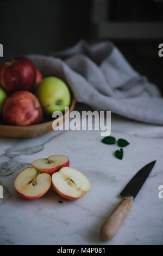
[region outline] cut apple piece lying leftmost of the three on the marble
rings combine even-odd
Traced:
[[[33,167],[22,170],[14,181],[16,191],[26,199],[42,197],[49,190],[51,184],[51,175],[40,173]]]

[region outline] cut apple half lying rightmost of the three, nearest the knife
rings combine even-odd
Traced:
[[[90,188],[90,181],[86,176],[71,167],[63,167],[52,175],[52,184],[60,196],[74,200],[83,197]]]

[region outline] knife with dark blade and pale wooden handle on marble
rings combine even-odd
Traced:
[[[151,173],[155,162],[156,161],[148,163],[141,170],[139,170],[139,172],[135,174],[135,176],[129,181],[127,186],[121,192],[120,196],[123,196],[124,198],[117,205],[115,210],[111,212],[110,216],[106,219],[101,227],[100,236],[102,240],[108,241],[116,235],[124,219],[128,215],[137,193],[140,191],[149,173]]]

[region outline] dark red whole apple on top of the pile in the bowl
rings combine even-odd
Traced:
[[[18,90],[33,90],[35,81],[35,66],[27,58],[17,57],[11,59],[0,68],[0,83],[9,94]]]

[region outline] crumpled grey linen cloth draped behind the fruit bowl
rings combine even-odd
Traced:
[[[78,102],[145,123],[163,125],[158,88],[136,72],[111,42],[77,45],[50,56],[27,56],[43,76],[58,76]]]

